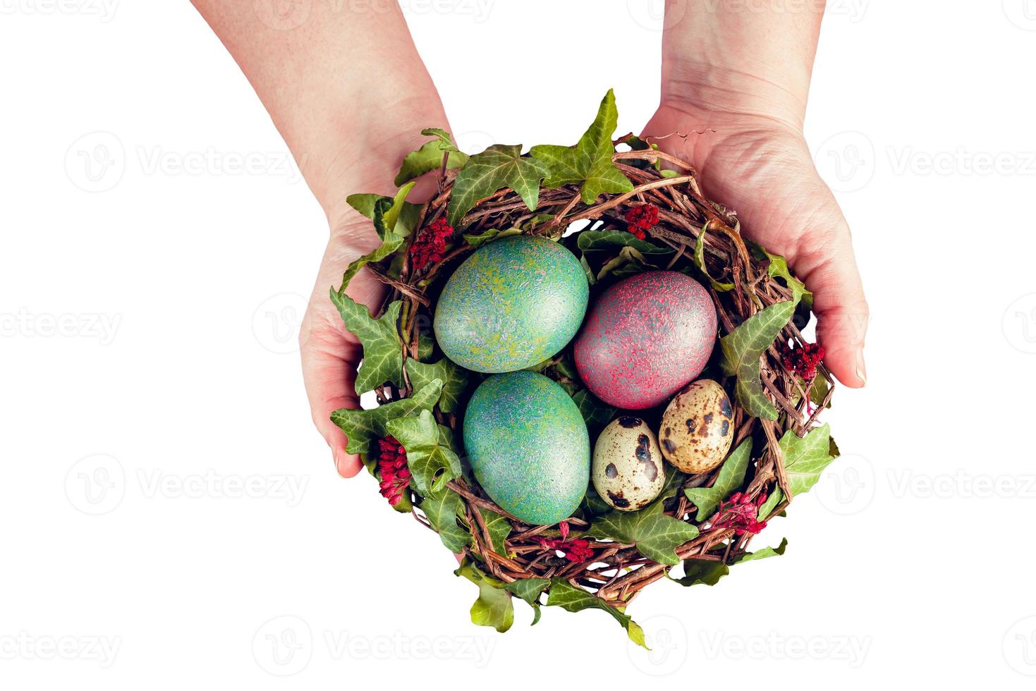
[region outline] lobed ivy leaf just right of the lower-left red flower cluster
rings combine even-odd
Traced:
[[[396,418],[385,423],[385,430],[406,450],[413,488],[423,496],[441,492],[448,482],[459,478],[460,459],[443,443],[439,426],[430,410],[416,418]]]

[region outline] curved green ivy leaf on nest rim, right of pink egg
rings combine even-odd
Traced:
[[[777,408],[767,398],[759,379],[759,357],[780,336],[795,314],[795,303],[786,300],[755,313],[719,340],[723,372],[737,375],[735,396],[745,411],[764,420],[777,420]]]

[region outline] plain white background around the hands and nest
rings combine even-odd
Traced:
[[[660,2],[405,4],[467,150],[657,103]],[[631,607],[652,655],[599,612],[474,627],[438,540],[335,474],[295,346],[325,224],[186,2],[0,11],[4,688],[1032,688],[1036,3],[829,8],[807,134],[869,385],[784,556]],[[536,55],[560,76],[516,97]]]

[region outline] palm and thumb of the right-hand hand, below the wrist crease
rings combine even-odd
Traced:
[[[867,301],[848,224],[801,129],[769,117],[663,105],[644,135],[672,132],[690,135],[653,141],[697,168],[706,196],[735,209],[746,236],[787,259],[814,294],[825,363],[843,384],[862,386]]]

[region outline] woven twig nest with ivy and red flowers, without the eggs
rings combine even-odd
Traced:
[[[833,379],[816,362],[816,346],[802,334],[810,319],[811,295],[781,257],[743,237],[732,210],[702,195],[689,163],[637,137],[614,140],[609,151],[614,168],[629,181],[625,192],[601,194],[587,202],[578,182],[553,189],[545,183],[529,208],[527,195],[505,186],[454,218],[448,215],[451,197],[467,157],[455,160],[456,149],[440,146],[436,155],[441,165],[428,171],[437,176],[437,188],[427,203],[400,207],[398,197],[382,198],[380,206],[365,211],[374,217],[391,246],[391,252],[362,262],[387,288],[384,303],[369,320],[395,323],[401,359],[398,380],[374,387],[379,404],[374,411],[391,410],[394,403],[399,411],[338,411],[335,420],[350,436],[350,451],[362,454],[395,508],[411,513],[463,555],[458,574],[480,585],[473,621],[505,630],[510,614],[493,614],[492,605],[503,598],[508,602],[495,609],[510,611],[513,595],[536,609],[537,620],[541,605],[570,611],[604,609],[643,643],[642,631],[625,614],[642,588],[666,577],[685,585],[712,584],[731,565],[781,553],[783,544],[749,552],[749,543],[837,456],[827,426],[817,422],[830,404]],[[657,210],[657,221],[651,209]],[[404,218],[409,228],[399,225]],[[641,510],[654,512],[643,521],[632,513],[616,516],[620,512],[609,511],[593,485],[579,510],[554,525],[524,523],[492,501],[458,448],[464,402],[485,375],[461,372],[437,354],[429,325],[438,293],[459,263],[479,246],[515,233],[568,247],[587,271],[591,301],[604,287],[640,270],[681,270],[697,278],[710,291],[719,317],[719,338],[701,376],[719,381],[733,403],[730,448],[747,450],[741,467],[724,463],[700,474],[668,467],[659,499],[653,509]],[[581,235],[594,241],[580,241]],[[358,269],[350,266],[346,280]],[[333,291],[333,299],[337,295],[341,300],[344,289],[343,284]],[[362,317],[367,317],[364,312]],[[346,314],[343,310],[343,317]],[[365,357],[370,358],[363,329],[350,318],[346,325],[364,341]],[[812,359],[804,356],[810,353]],[[429,363],[437,357],[435,367],[441,368],[434,370]],[[592,443],[596,432],[618,414],[583,392],[572,367],[571,345],[538,371],[579,397]],[[460,381],[451,385],[447,377]],[[427,400],[400,404],[423,387],[436,385],[433,394],[452,390],[449,403],[443,394],[438,401],[433,396],[431,405]],[[403,431],[393,419],[416,420],[421,408],[442,430],[437,439],[420,440],[415,422],[405,439],[393,434]],[[657,423],[661,408],[638,414],[649,421],[655,415]],[[412,439],[421,441],[420,454],[419,441]],[[401,445],[394,450],[395,443]],[[436,453],[439,460],[429,461]],[[461,461],[452,470],[449,458],[443,460],[451,454]],[[414,477],[419,468],[423,479]]]

